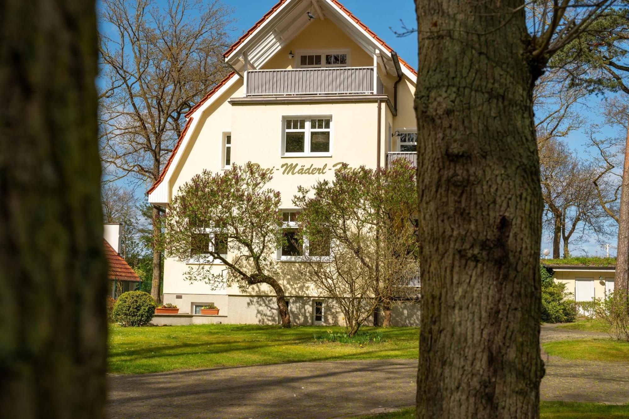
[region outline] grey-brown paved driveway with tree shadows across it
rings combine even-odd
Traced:
[[[542,330],[542,342],[596,334]],[[629,403],[629,366],[548,357],[542,399]],[[416,360],[349,360],[109,377],[111,418],[331,418],[415,403]]]

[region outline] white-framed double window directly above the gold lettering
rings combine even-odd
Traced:
[[[331,116],[285,117],[282,155],[330,156]]]

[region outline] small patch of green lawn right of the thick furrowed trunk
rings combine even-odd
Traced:
[[[543,349],[565,359],[629,362],[629,342],[611,339],[557,340],[543,344]]]

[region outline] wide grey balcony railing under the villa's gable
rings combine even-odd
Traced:
[[[245,72],[246,96],[382,94],[374,67],[332,67]]]

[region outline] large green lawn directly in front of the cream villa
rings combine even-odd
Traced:
[[[340,359],[416,358],[418,328],[370,328],[380,344],[316,343],[313,335],[340,327],[191,325],[109,328],[109,372],[144,374],[177,369]]]

